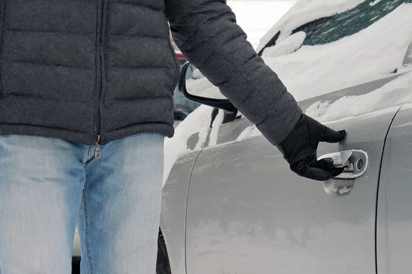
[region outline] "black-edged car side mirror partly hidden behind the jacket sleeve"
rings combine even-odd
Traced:
[[[211,84],[190,62],[181,69],[178,90],[187,100],[227,112],[237,112],[235,106],[227,99],[218,87]]]

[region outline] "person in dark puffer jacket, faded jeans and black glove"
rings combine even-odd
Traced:
[[[0,273],[155,273],[174,40],[295,173],[334,132],[301,113],[224,0],[1,1]]]

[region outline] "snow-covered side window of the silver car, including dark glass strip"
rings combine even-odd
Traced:
[[[363,1],[281,34],[262,58],[298,101],[371,82],[410,69],[411,14],[412,0]]]

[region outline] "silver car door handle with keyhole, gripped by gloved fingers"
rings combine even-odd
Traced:
[[[334,166],[343,167],[343,173],[323,182],[323,188],[330,195],[347,195],[354,186],[355,179],[363,176],[369,166],[369,156],[363,150],[346,150],[321,155],[318,160],[332,158]]]

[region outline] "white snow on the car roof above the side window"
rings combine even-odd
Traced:
[[[258,51],[279,31],[281,32],[278,38],[280,42],[301,25],[319,18],[345,12],[363,1],[365,0],[300,0],[260,39]]]

